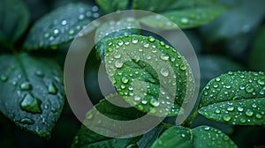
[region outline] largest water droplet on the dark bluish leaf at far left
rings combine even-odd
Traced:
[[[21,101],[20,107],[22,110],[26,110],[30,113],[42,113],[42,109],[40,107],[41,103],[41,100],[36,99],[31,94],[27,93],[27,95]]]

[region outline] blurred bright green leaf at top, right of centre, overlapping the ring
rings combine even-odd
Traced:
[[[172,4],[174,6],[174,4]],[[176,4],[176,9],[163,11],[160,14],[170,21],[157,15],[150,15],[148,17],[140,18],[140,22],[154,28],[163,29],[186,29],[197,26],[202,26],[213,21],[225,11],[222,4],[206,1],[206,3],[199,4]]]

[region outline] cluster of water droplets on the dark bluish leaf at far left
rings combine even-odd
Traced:
[[[11,65],[11,67],[6,71],[8,71],[8,73],[11,72],[12,74],[8,75],[1,72],[0,85],[4,85],[4,87],[7,88],[14,88],[14,90],[16,90],[16,93],[14,93],[14,95],[19,97],[19,107],[21,110],[26,111],[28,114],[31,115],[40,115],[42,114],[43,109],[50,109],[51,112],[54,113],[57,111],[57,107],[54,107],[55,105],[51,105],[48,100],[44,100],[44,103],[42,103],[42,99],[35,95],[37,93],[33,93],[33,91],[36,91],[34,90],[34,88],[42,86],[34,85],[34,83],[31,83],[31,81],[27,80],[27,78],[22,77],[23,72],[17,75],[19,71],[19,64]],[[13,76],[13,74],[15,77]],[[46,79],[42,70],[35,70],[34,73],[30,74],[30,78],[34,78],[34,81],[40,80],[43,82],[45,81],[44,79]],[[57,76],[55,76],[54,81],[57,83],[62,83],[60,78],[57,78]],[[50,82],[46,86],[44,85],[44,88],[42,89],[42,93],[47,92],[49,93],[49,95],[56,96],[59,98],[62,97],[62,94],[57,93],[58,88],[54,84],[54,82]],[[40,94],[40,96],[42,95]],[[43,123],[46,123],[46,119],[43,115],[41,115],[40,118],[42,118]],[[31,119],[29,117],[20,118],[19,116],[17,116],[15,117],[15,120],[19,121],[22,124],[34,124],[35,122],[35,119]]]

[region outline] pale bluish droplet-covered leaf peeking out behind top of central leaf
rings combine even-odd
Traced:
[[[96,50],[101,59],[105,55],[104,41],[108,38],[140,34],[140,24],[134,18],[126,18],[118,21],[110,20],[99,26],[95,32]]]

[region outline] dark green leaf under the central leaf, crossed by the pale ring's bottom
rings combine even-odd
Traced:
[[[124,108],[117,107],[112,105],[107,100],[102,100],[100,103],[95,105],[95,107],[103,114],[107,115],[112,119],[117,120],[128,120],[135,119],[141,114],[135,108]],[[84,123],[86,125],[87,120],[92,120],[94,116],[91,116],[93,109],[87,113],[87,118]],[[91,122],[90,122],[91,123]],[[96,123],[96,122],[95,122]],[[96,123],[99,125],[99,123]],[[90,125],[89,125],[90,126]],[[110,130],[110,129],[108,129]],[[151,144],[154,143],[155,139],[158,137],[159,133],[163,130],[163,127],[156,127],[153,130],[150,130],[148,133],[141,135],[139,137],[130,137],[130,138],[111,138],[103,137],[92,130],[87,129],[85,126],[81,126],[78,134],[73,139],[72,147],[117,147],[124,148],[126,146],[139,147],[139,148],[148,148]]]

